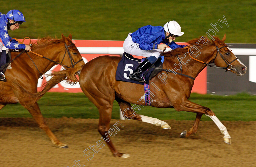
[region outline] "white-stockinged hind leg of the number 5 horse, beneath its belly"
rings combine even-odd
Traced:
[[[142,122],[147,122],[149,124],[153,124],[155,126],[161,126],[164,129],[171,129],[171,127],[164,121],[158,120],[157,118],[147,117],[144,115],[139,115],[133,111],[133,108],[130,103],[123,101],[116,97],[116,101],[118,102],[120,109],[122,110],[123,116],[126,119],[133,119]]]

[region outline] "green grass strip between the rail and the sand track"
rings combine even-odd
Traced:
[[[226,121],[256,121],[256,96],[240,93],[232,96],[200,95],[192,93],[190,100],[210,108],[219,120]],[[48,92],[39,101],[39,107],[44,117],[61,118],[99,118],[98,109],[83,93]],[[194,120],[195,113],[177,112],[170,108],[155,108],[144,106],[139,114],[155,117],[161,120]],[[20,104],[6,105],[0,111],[0,117],[31,117],[30,113]],[[119,119],[119,105],[115,101],[112,118]],[[211,120],[203,116],[203,121]]]

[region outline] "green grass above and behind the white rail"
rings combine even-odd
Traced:
[[[11,37],[37,39],[61,33],[79,40],[125,40],[129,32],[146,25],[163,26],[176,20],[184,35],[176,42],[186,42],[206,35],[208,30],[223,37],[226,43],[255,43],[256,3],[250,0],[237,1],[5,1],[0,12],[6,14],[19,9],[26,22]],[[225,16],[228,25],[221,23]],[[210,24],[216,25],[215,30]],[[212,34],[212,33],[211,33]]]

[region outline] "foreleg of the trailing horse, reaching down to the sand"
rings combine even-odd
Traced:
[[[56,147],[68,148],[67,144],[60,142],[59,139],[57,139],[57,137],[52,133],[50,128],[46,125],[46,123],[44,121],[44,117],[43,117],[37,103],[34,103],[34,105],[32,107],[26,108],[26,109],[30,112],[30,114],[36,120],[39,127],[46,132],[46,134],[48,135],[48,137],[50,138],[50,140]]]

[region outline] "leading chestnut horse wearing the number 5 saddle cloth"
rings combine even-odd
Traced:
[[[154,96],[151,96],[151,106],[174,108],[176,111],[196,113],[193,127],[189,131],[183,131],[180,137],[188,137],[196,133],[200,119],[205,114],[215,122],[221,133],[224,134],[224,141],[231,144],[231,137],[226,127],[219,121],[212,110],[188,100],[194,84],[193,78],[196,78],[209,63],[214,63],[217,67],[236,73],[236,75],[243,75],[246,72],[246,66],[237,59],[224,43],[226,34],[222,40],[217,37],[214,39],[211,43],[206,36],[203,36],[200,39],[197,38],[187,42],[190,44],[190,53],[193,53],[194,57],[191,57],[191,54],[187,53],[187,48],[189,47],[177,48],[163,54],[165,56],[163,68],[170,70],[161,71],[156,77],[150,80],[151,86],[154,85],[154,87],[151,87],[154,88],[154,92],[151,92],[151,95],[154,94]],[[145,105],[145,101],[143,101],[144,87],[143,85],[134,83],[116,81],[116,69],[120,59],[120,57],[101,56],[89,61],[83,66],[55,72],[42,92],[38,92],[37,94],[30,93],[28,100],[32,101],[31,104],[33,104],[45,92],[66,77],[66,81],[69,83],[78,82],[76,72],[81,70],[79,77],[80,87],[99,110],[99,133],[104,139],[108,138],[107,144],[114,156],[129,157],[128,154],[122,154],[117,151],[109,138],[109,123],[115,99],[119,103],[124,117],[128,119],[151,123],[166,129],[170,129],[170,126],[166,122],[156,118],[137,114],[138,108]],[[182,67],[182,72],[177,67]],[[178,75],[178,71],[171,70],[173,68],[180,70],[179,72],[183,76]],[[173,72],[171,73],[171,71]],[[20,87],[19,89],[22,88]],[[29,93],[23,92],[25,94]],[[130,103],[136,104],[134,105],[135,107],[132,107]]]

